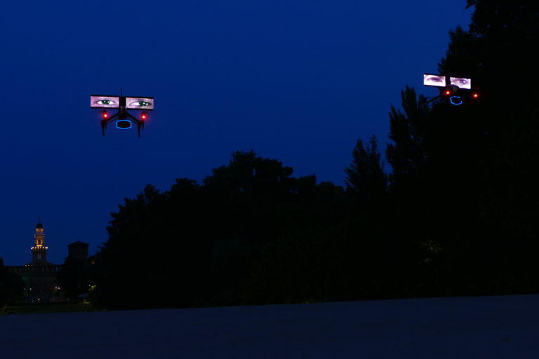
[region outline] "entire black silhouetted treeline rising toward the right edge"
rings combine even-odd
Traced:
[[[468,1],[439,73],[481,99],[391,108],[382,169],[358,140],[345,187],[238,151],[202,184],[126,199],[95,257],[98,308],[539,291],[539,5]]]

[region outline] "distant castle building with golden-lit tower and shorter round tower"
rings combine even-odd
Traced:
[[[88,244],[75,242],[67,245],[68,257],[85,259],[88,257]],[[47,262],[47,250],[45,246],[45,233],[43,224],[36,224],[34,233],[34,247],[32,250],[32,262],[24,266],[6,266],[10,273],[18,274],[25,281],[27,297],[25,302],[58,302],[60,288],[56,283],[56,276],[60,266]]]

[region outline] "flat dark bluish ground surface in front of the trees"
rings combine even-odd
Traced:
[[[0,358],[539,358],[539,295],[0,316]]]

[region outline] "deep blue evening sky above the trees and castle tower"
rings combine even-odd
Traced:
[[[110,212],[154,184],[200,181],[253,149],[342,184],[357,138],[385,147],[390,104],[436,72],[465,1],[8,1],[0,12],[0,257],[91,253]],[[89,95],[154,96],[139,139]]]

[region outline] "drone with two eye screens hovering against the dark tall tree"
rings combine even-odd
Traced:
[[[423,74],[423,85],[437,87],[440,94],[427,102],[447,99],[450,104],[459,106],[467,99],[479,99],[479,93],[472,91],[472,79],[445,75]]]

